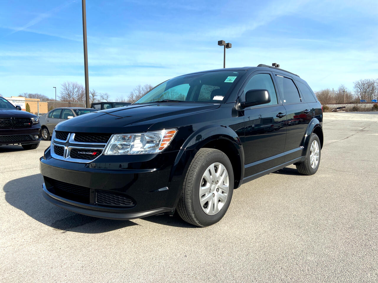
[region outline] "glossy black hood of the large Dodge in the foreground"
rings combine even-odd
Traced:
[[[217,103],[149,103],[111,108],[71,118],[56,126],[67,132],[146,132],[157,122],[217,109]]]

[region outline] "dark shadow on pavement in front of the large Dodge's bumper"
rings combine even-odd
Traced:
[[[42,196],[40,174],[9,181],[4,186],[5,200],[35,220],[62,232],[103,233],[138,225],[129,220],[109,220],[76,214],[52,205]]]

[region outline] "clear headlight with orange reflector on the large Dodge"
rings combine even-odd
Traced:
[[[144,134],[113,135],[104,154],[142,154],[163,151],[176,135],[177,129]]]

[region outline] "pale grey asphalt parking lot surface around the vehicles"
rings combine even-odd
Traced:
[[[49,145],[0,148],[2,282],[377,282],[378,115],[325,113],[317,174],[234,191],[219,223],[105,220],[42,197]]]

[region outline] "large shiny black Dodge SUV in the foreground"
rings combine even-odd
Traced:
[[[299,76],[266,65],[172,78],[129,106],[56,126],[43,195],[77,213],[133,219],[175,210],[208,226],[243,183],[294,164],[314,174],[323,112]]]

